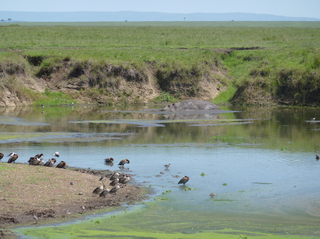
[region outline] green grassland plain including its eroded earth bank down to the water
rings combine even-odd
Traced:
[[[1,24],[0,105],[320,105],[320,22],[51,24]]]

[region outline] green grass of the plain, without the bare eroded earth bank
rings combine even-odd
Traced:
[[[227,70],[231,92],[297,105],[319,101],[320,22],[25,22],[1,23],[0,34],[0,72],[9,74],[32,68],[25,56],[50,58],[42,69],[65,58],[142,75],[152,65],[162,84],[218,67]],[[260,49],[219,52],[240,47]]]

